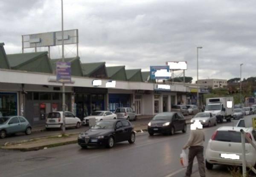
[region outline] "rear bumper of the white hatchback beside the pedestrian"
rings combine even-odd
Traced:
[[[233,160],[233,159],[222,158],[222,157],[220,157],[221,153],[236,154],[236,155],[239,155],[240,159],[239,160]],[[252,152],[247,153],[245,155],[245,157],[246,157],[246,162],[247,163],[251,164],[252,166],[255,165],[256,156]],[[212,163],[212,164],[242,166],[242,155],[237,154],[237,153],[217,152],[217,151],[213,151],[211,149],[207,149],[206,150],[206,160],[207,160],[208,163]]]

